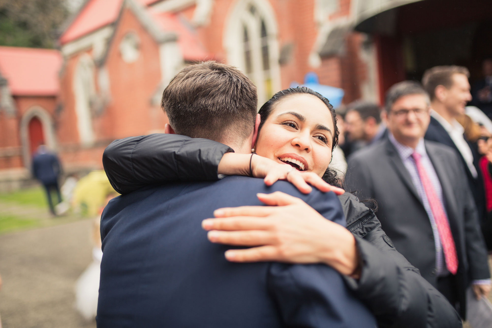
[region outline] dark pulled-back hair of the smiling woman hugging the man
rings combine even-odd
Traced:
[[[274,106],[276,103],[281,101],[284,98],[291,97],[294,95],[312,95],[314,97],[319,98],[321,101],[323,101],[328,107],[328,110],[332,114],[332,119],[333,119],[333,127],[335,131],[333,131],[333,142],[332,142],[332,152],[335,146],[338,144],[338,127],[337,127],[337,114],[335,113],[335,110],[333,109],[333,105],[330,103],[330,101],[321,96],[319,93],[316,91],[313,91],[307,87],[297,87],[297,88],[288,88],[282,91],[277,92],[270,100],[265,102],[263,106],[261,106],[260,111],[258,114],[260,114],[261,117],[261,122],[260,126],[258,127],[258,131],[261,130],[261,127],[263,127],[263,124],[267,120],[267,118],[270,116],[272,113],[272,110],[274,109]],[[333,169],[327,168],[325,173],[323,174],[323,180],[328,182],[332,186],[337,186],[341,187],[340,180],[337,178],[337,172]]]

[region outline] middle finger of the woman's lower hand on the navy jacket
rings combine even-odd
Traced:
[[[263,218],[236,216],[222,219],[205,219],[202,221],[204,230],[268,230],[272,224]]]

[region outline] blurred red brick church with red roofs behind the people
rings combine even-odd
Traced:
[[[428,66],[473,66],[492,44],[487,2],[86,0],[59,51],[0,47],[0,184],[29,177],[41,142],[70,172],[101,168],[114,139],[163,131],[162,91],[202,60],[242,69],[260,104],[309,71],[344,103],[379,102]]]

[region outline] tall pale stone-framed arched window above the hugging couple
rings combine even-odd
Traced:
[[[224,45],[228,64],[241,68],[258,88],[259,105],[280,89],[277,25],[268,1],[238,1]]]

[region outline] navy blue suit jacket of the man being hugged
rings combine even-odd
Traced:
[[[101,219],[97,326],[375,327],[334,269],[227,262],[231,247],[207,239],[201,221],[215,209],[261,205],[256,193],[277,190],[344,224],[333,193],[306,196],[283,181],[266,187],[248,177],[142,188],[111,200]]]

